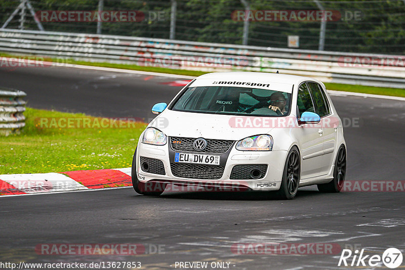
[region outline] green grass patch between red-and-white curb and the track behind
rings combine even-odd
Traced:
[[[39,128],[41,122],[35,120],[39,117],[88,116],[31,108],[24,115],[26,126],[21,134],[0,136],[0,174],[131,167],[146,127],[138,122],[131,128]]]

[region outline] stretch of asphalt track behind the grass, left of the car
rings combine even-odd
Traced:
[[[169,102],[178,92],[164,84],[177,80],[168,77],[62,67],[0,71],[1,86],[27,93],[29,107],[93,116],[153,117],[151,97]]]

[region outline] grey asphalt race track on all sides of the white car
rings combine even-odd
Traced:
[[[26,92],[30,107],[109,117],[152,117],[151,106],[169,102],[181,88],[164,84],[174,80],[62,67],[0,70],[1,86]],[[346,181],[405,180],[405,102],[352,96],[332,99],[340,117],[346,119]],[[142,269],[174,269],[176,261],[230,262],[230,269],[360,268],[339,267],[341,252],[236,254],[231,247],[237,243],[333,243],[342,249],[364,248],[370,256],[381,256],[389,247],[403,253],[404,194],[322,194],[307,187],[299,190],[295,200],[279,201],[266,194],[230,192],[146,197],[127,188],[4,197],[0,198],[0,261],[140,261]],[[36,254],[35,246],[44,243],[138,243],[149,254]],[[155,254],[157,246],[161,250]],[[384,265],[374,268],[380,267]]]

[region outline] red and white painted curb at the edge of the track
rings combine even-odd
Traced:
[[[131,168],[0,174],[0,196],[132,187]]]

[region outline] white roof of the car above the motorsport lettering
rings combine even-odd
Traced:
[[[230,79],[230,80],[265,80],[275,83],[288,83],[295,84],[305,80],[318,81],[313,78],[289,75],[289,74],[280,74],[280,73],[269,73],[269,72],[213,72],[207,73],[201,76],[198,76],[196,79]]]

